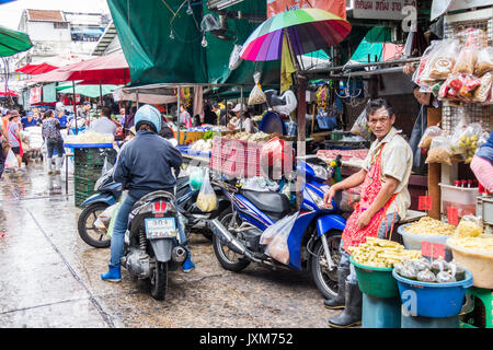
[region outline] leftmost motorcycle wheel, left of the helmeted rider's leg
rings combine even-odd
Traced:
[[[108,205],[96,202],[87,207],[79,215],[78,231],[79,235],[87,244],[94,248],[107,248],[112,240],[106,237],[106,233],[94,226],[94,222]]]

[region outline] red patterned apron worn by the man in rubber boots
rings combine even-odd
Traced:
[[[351,217],[347,219],[346,228],[342,234],[343,247],[347,252],[348,247],[356,247],[362,243],[366,242],[366,237],[376,237],[378,235],[378,228],[380,226],[383,219],[387,220],[387,210],[397,197],[393,194],[392,197],[385,203],[385,206],[371,218],[369,224],[365,229],[359,229],[357,226],[357,221],[362,213],[368,209],[368,207],[374,202],[377,195],[381,189],[381,152],[383,151],[385,144],[382,144],[380,152],[377,155],[375,164],[371,166],[369,172],[366,174],[365,182],[363,183],[362,197],[356,208]],[[393,220],[392,220],[393,229]]]

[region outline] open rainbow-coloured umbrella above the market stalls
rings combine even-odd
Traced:
[[[349,34],[351,24],[320,9],[280,12],[262,23],[243,44],[241,58],[250,61],[278,60],[283,38],[288,35],[295,55],[335,46]]]

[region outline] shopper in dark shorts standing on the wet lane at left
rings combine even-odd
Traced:
[[[46,149],[48,151],[47,162],[48,162],[48,175],[60,174],[62,156],[64,156],[64,139],[60,133],[60,121],[55,118],[53,110],[47,110],[45,113],[45,121],[43,121],[42,136],[46,142]],[[55,172],[53,170],[53,152],[57,150],[58,156],[55,160]]]

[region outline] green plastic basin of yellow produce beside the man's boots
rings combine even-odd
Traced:
[[[355,267],[359,290],[363,293],[378,298],[399,296],[398,283],[392,277],[392,268],[360,265],[354,261],[353,257],[349,257],[349,261]]]

